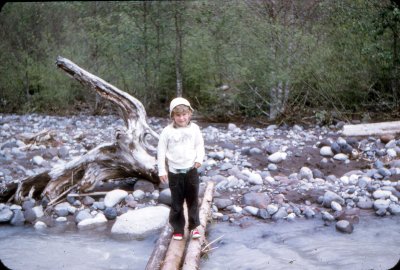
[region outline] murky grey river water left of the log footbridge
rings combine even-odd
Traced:
[[[103,231],[0,226],[0,259],[19,269],[144,269],[157,236],[114,240]]]

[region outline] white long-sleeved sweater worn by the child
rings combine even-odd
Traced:
[[[187,127],[166,126],[161,132],[157,147],[158,175],[167,175],[169,171],[193,167],[195,162],[203,163],[205,151],[200,128],[195,123]]]

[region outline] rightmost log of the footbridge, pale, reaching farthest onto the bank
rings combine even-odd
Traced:
[[[206,227],[210,215],[211,202],[213,200],[214,182],[207,183],[206,191],[204,193],[203,201],[200,208],[200,226],[198,230],[201,234],[199,239],[191,239],[189,246],[186,250],[186,256],[183,263],[182,270],[197,270],[199,269],[201,247],[206,242]]]

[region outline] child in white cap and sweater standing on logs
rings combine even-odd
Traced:
[[[174,229],[173,239],[182,240],[185,227],[183,203],[188,207],[189,231],[192,238],[200,238],[196,229],[199,220],[199,168],[204,159],[204,141],[200,128],[190,122],[193,108],[189,101],[178,97],[171,101],[172,123],[161,132],[157,148],[158,175],[162,183],[169,182],[171,212],[169,223]]]

